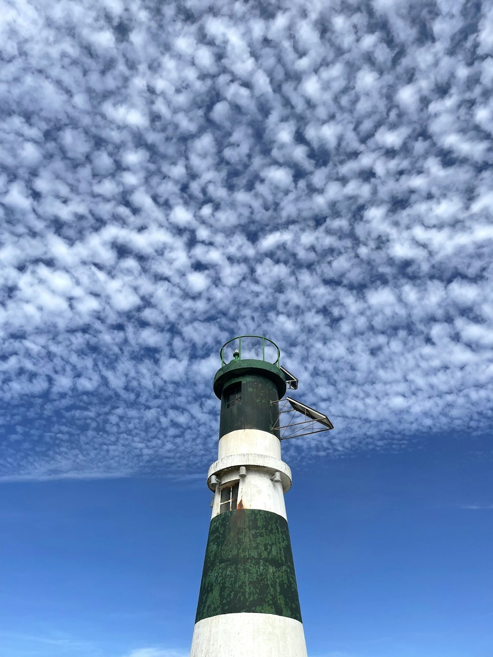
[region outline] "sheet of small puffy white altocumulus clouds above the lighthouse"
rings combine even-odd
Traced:
[[[303,461],[491,428],[488,2],[14,0],[3,480],[188,472],[222,342],[283,348]]]

